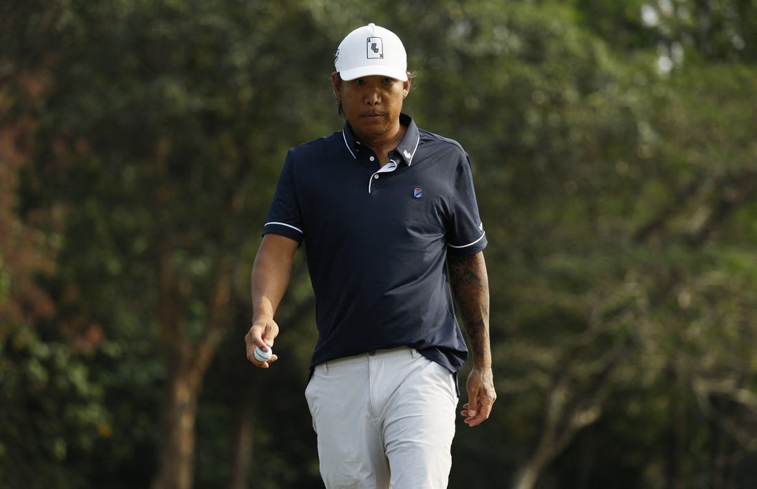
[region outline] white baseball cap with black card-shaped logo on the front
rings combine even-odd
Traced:
[[[389,76],[407,82],[407,53],[397,34],[369,23],[342,39],[334,66],[341,79]]]

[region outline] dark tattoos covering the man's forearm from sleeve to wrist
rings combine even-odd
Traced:
[[[489,350],[489,282],[482,254],[447,260],[450,288],[477,358]]]

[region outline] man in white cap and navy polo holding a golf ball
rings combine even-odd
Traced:
[[[447,487],[456,372],[473,367],[462,416],[496,399],[487,244],[468,156],[401,113],[400,39],[369,24],[339,45],[332,86],[344,129],[292,148],[252,271],[248,359],[279,335],[274,313],[304,242],[319,338],[306,397],[326,487]],[[446,264],[446,267],[445,267]]]

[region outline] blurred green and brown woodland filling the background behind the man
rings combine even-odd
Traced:
[[[302,257],[266,372],[248,277],[368,22],[490,241],[499,398],[450,487],[754,487],[757,2],[7,0],[0,488],[322,487]]]

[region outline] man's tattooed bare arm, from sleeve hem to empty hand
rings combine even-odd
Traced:
[[[469,426],[480,425],[491,413],[497,392],[491,372],[489,343],[489,279],[484,254],[470,257],[447,257],[450,288],[455,298],[473,354],[473,369],[466,388],[468,402],[461,415]]]

